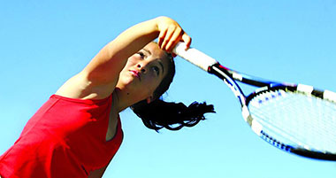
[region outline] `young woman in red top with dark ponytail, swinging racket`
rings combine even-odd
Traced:
[[[118,35],[27,122],[0,157],[2,178],[102,177],[122,142],[118,113],[129,106],[155,130],[204,120],[212,105],[187,107],[160,99],[175,73],[169,52],[180,41],[189,47],[191,38],[167,17]]]

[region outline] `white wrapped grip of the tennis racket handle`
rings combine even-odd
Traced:
[[[218,63],[216,59],[202,53],[200,50],[196,50],[195,48],[186,50],[186,48],[186,43],[177,43],[172,52],[195,66],[202,68],[206,72],[208,72],[210,66]]]

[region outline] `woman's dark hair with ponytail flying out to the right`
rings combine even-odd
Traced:
[[[194,102],[186,106],[183,103],[164,102],[160,98],[169,89],[175,75],[175,63],[172,54],[167,52],[165,54],[170,65],[167,75],[154,91],[156,99],[149,104],[143,100],[134,104],[131,108],[147,128],[156,131],[161,128],[179,130],[185,126],[193,127],[200,120],[205,120],[204,113],[214,112],[213,105],[208,105],[205,102],[202,104]]]

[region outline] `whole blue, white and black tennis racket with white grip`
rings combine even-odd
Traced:
[[[241,103],[244,120],[264,141],[303,157],[336,160],[336,93],[261,80],[221,66],[200,50],[185,49],[178,43],[173,53],[225,81]],[[246,96],[236,81],[258,89]]]

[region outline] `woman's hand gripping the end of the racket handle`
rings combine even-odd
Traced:
[[[179,42],[186,43],[187,49],[190,47],[190,36],[183,31],[175,20],[167,17],[158,17],[157,28],[159,30],[158,46],[161,49],[172,52],[172,49]]]

